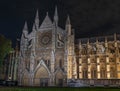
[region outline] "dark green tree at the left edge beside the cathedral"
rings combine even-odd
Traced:
[[[11,42],[11,40],[5,38],[3,35],[0,35],[0,74],[2,74],[1,72],[2,72],[2,68],[3,68],[4,58],[12,50],[13,49],[12,49],[12,42]]]

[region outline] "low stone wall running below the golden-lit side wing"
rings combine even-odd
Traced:
[[[109,86],[120,87],[120,79],[69,79],[68,86]]]

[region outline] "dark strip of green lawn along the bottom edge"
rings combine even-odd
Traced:
[[[0,87],[0,91],[120,91],[120,88]]]

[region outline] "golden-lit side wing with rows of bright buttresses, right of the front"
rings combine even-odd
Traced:
[[[120,35],[79,39],[77,78],[120,79]]]

